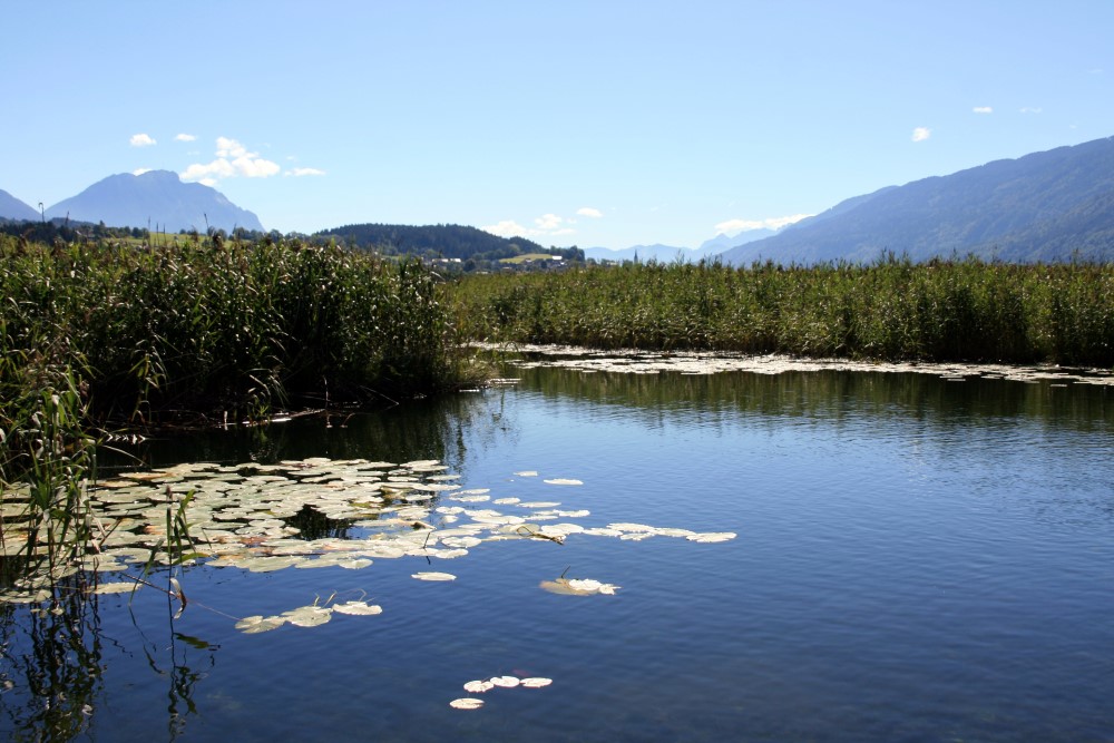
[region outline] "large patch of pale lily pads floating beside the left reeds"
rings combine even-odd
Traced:
[[[365,459],[311,458],[275,465],[185,463],[155,471],[125,472],[90,483],[88,505],[94,534],[89,555],[71,569],[123,573],[137,565],[174,565],[182,556],[167,551],[168,510],[188,496],[190,551],[211,567],[253,573],[285,568],[365,568],[377,559],[420,557],[453,559],[483,544],[510,539],[563,542],[571,535],[641,540],[684,538],[724,541],[733,532],[697,532],[643,524],[583,526],[586,509],[566,509],[557,500],[492,498],[488,489],[466,489],[459,475],[436,460],[401,465]],[[520,478],[536,471],[515,472]],[[555,490],[583,485],[549,478]],[[6,493],[6,507],[11,505]],[[340,525],[329,536],[300,534],[306,509]],[[11,521],[6,524],[9,526]],[[12,541],[17,541],[12,539]],[[419,580],[452,580],[450,573],[416,573]],[[135,583],[101,581],[100,593],[134,589]],[[544,581],[543,588],[568,595],[614,594],[618,586],[594,579]],[[38,593],[37,593],[38,592]],[[0,594],[0,602],[45,600],[41,586]],[[377,613],[359,607],[313,607],[278,617],[250,617],[244,630],[262,632],[283,624],[306,626],[328,620],[333,612]],[[303,607],[306,608],[306,607]],[[378,608],[378,607],[377,607]],[[285,617],[285,618],[282,618]],[[324,617],[323,619],[321,617]],[[245,624],[246,623],[246,624]]]

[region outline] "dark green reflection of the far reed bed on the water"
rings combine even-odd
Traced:
[[[1114,431],[1114,391],[1106,385],[1014,382],[988,378],[944,380],[893,372],[783,372],[755,374],[629,374],[563,368],[511,370],[525,389],[548,398],[571,398],[639,413],[714,424],[739,413],[781,426],[818,420],[839,426],[848,418],[931,421],[940,428],[996,426],[1025,419],[1081,432]]]

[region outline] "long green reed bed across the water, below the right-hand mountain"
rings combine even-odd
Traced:
[[[452,297],[477,340],[1114,365],[1111,265],[626,263],[470,276]]]

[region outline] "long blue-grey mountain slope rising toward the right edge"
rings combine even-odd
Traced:
[[[1007,262],[1114,258],[1114,137],[995,160],[849,198],[723,260],[869,263],[976,255]]]

